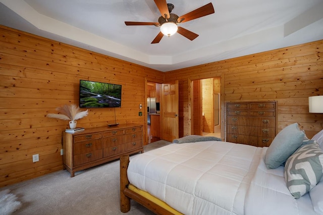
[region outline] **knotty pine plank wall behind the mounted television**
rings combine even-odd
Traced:
[[[68,121],[45,116],[58,106],[78,105],[80,79],[121,84],[117,122],[145,124],[146,112],[138,116],[145,78],[161,83],[163,72],[4,26],[0,33],[0,187],[63,169]],[[89,109],[77,125],[106,126],[114,122],[114,111]],[[39,162],[32,162],[33,154]]]

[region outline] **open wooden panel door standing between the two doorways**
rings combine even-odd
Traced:
[[[163,139],[173,142],[179,138],[178,80],[161,86],[161,119]]]

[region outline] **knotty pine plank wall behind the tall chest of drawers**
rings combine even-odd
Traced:
[[[278,101],[278,130],[299,123],[311,138],[323,114],[308,113],[308,96],[323,95],[323,40],[165,73],[179,80],[180,135],[189,135],[189,80],[221,77],[221,128],[227,101]],[[221,129],[224,138],[224,129]]]

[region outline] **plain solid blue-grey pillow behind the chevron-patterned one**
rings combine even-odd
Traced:
[[[281,166],[302,145],[304,135],[297,123],[281,130],[266,151],[266,168],[276,169]]]

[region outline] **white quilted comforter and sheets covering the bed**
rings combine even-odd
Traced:
[[[265,168],[266,149],[171,144],[132,157],[128,179],[184,214],[315,214],[308,194],[298,200],[289,194],[283,168]]]

